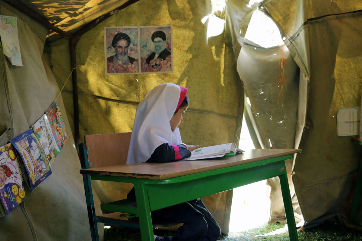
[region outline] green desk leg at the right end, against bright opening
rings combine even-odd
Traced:
[[[284,175],[279,176],[279,180],[280,180],[280,187],[282,189],[285,217],[287,219],[288,230],[289,230],[289,238],[290,241],[298,241],[298,234],[296,232],[296,227],[295,227],[294,211],[293,211],[292,201],[290,199],[287,174],[285,173]]]

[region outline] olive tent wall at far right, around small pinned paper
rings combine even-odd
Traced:
[[[296,190],[300,197],[305,197],[301,207],[306,220],[324,214],[349,216],[358,147],[350,137],[337,137],[336,115],[339,108],[361,103],[362,57],[357,47],[362,40],[357,30],[362,26],[361,17],[361,13],[346,14],[308,23],[310,39],[319,41],[310,40],[310,52],[315,53],[311,55],[314,74],[307,112],[310,126],[300,145],[304,151],[295,164]],[[305,195],[312,192],[317,195]]]

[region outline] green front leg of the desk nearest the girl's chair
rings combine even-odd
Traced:
[[[142,241],[153,241],[150,201],[148,201],[147,189],[142,183],[135,183],[134,186]]]

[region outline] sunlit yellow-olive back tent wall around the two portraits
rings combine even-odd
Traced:
[[[130,132],[138,103],[153,87],[172,82],[188,88],[190,106],[180,127],[182,141],[200,146],[239,142],[244,106],[243,86],[236,72],[228,33],[208,38],[201,19],[211,13],[210,1],[138,1],[81,36],[76,47],[80,138],[86,134]],[[171,25],[173,73],[106,75],[104,27]],[[52,71],[62,86],[70,73],[68,42],[52,42]],[[71,82],[64,103],[73,116]],[[83,140],[80,140],[83,141]],[[102,202],[125,197],[124,184],[94,186]],[[210,197],[211,198],[211,197]],[[208,208],[228,233],[231,198],[213,195]]]

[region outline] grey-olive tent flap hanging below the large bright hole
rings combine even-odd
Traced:
[[[262,48],[245,40],[237,60],[237,70],[245,87],[244,115],[254,145],[259,148],[294,148],[298,111],[299,68],[285,46]],[[285,60],[285,79],[279,73],[279,52]],[[281,88],[282,87],[282,88]],[[292,173],[292,159],[286,161],[287,173]],[[270,178],[270,222],[286,221],[279,178]],[[292,179],[289,178],[295,221],[303,220],[295,197]]]

